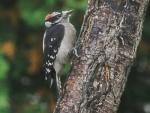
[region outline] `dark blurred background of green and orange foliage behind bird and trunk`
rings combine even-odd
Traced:
[[[71,22],[79,33],[86,1],[0,0],[0,113],[52,111],[55,91],[42,74],[44,17],[74,9]],[[119,113],[150,113],[150,7]]]

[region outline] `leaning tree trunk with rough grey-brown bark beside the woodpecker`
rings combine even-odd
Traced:
[[[79,56],[55,113],[115,113],[141,40],[149,0],[88,0]]]

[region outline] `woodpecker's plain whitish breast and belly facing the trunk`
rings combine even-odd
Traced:
[[[65,26],[65,33],[56,56],[56,62],[65,64],[68,60],[68,53],[72,50],[75,43],[76,30],[71,23],[63,23],[63,25]]]

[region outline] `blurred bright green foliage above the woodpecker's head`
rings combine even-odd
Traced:
[[[86,0],[45,0],[45,1],[33,1],[30,0],[19,0],[18,8],[21,14],[21,18],[32,27],[41,27],[43,25],[43,17],[49,11],[55,10],[85,10]],[[57,4],[58,3],[58,4]],[[41,5],[43,4],[43,5]],[[60,7],[58,7],[60,6]]]

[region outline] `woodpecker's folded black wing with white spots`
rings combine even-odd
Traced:
[[[64,37],[64,26],[61,24],[54,25],[46,29],[45,37],[43,38],[44,49],[44,73],[45,79],[52,81],[55,78],[54,61],[61,41]]]

